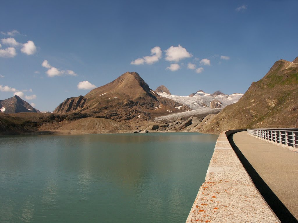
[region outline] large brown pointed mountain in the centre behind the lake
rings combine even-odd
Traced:
[[[143,121],[171,112],[190,110],[174,100],[163,98],[150,89],[136,72],[126,72],[85,96],[67,98],[53,113],[88,113],[93,117],[117,121]]]

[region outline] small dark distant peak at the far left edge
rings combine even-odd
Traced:
[[[0,100],[0,113],[13,114],[19,112],[35,112],[39,113],[37,109],[33,108],[27,101],[21,99],[18,95],[5,100]]]

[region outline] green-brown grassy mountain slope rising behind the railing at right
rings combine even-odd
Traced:
[[[293,62],[281,59],[262,79],[252,82],[237,103],[209,116],[209,124],[199,131],[218,134],[238,128],[297,128],[297,97],[298,57]]]

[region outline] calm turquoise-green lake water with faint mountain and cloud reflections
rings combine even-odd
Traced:
[[[0,137],[0,222],[184,222],[218,136]]]

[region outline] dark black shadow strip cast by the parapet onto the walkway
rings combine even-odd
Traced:
[[[239,148],[235,145],[233,141],[233,135],[228,136],[229,143],[231,144],[233,150],[238,156],[239,160],[243,164],[250,178],[252,179],[254,185],[260,191],[260,194],[266,200],[272,211],[280,219],[282,223],[298,223],[297,219],[291,214],[288,208],[279,200],[279,198],[273,193],[273,191],[268,187],[265,181],[260,177],[257,171],[252,167],[249,161],[241,153]]]

